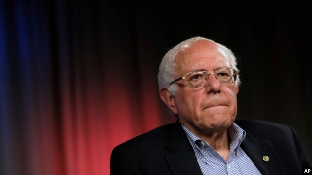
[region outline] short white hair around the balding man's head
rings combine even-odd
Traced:
[[[211,41],[211,42],[215,43],[219,47],[219,49],[224,51],[223,54],[225,54],[226,57],[229,59],[228,61],[230,62],[230,66],[232,68],[234,68],[235,70],[238,70],[237,69],[237,62],[236,62],[237,59],[234,56],[234,53],[232,53],[232,51],[230,49],[223,46],[222,44],[216,43],[215,41],[204,38],[204,37],[193,37],[193,38],[184,40],[184,41],[180,42],[179,44],[177,44],[175,47],[170,49],[165,54],[165,56],[162,58],[162,61],[159,65],[159,72],[158,72],[159,88],[167,87],[169,92],[172,95],[176,95],[176,90],[177,90],[176,84],[173,84],[170,86],[170,83],[174,79],[177,78],[176,63],[175,63],[176,55],[177,55],[177,53],[182,51],[185,47],[190,46],[192,43],[195,43],[196,41],[199,41],[199,40],[207,40],[207,41]],[[239,75],[238,75],[237,80],[235,82],[235,86],[237,87],[239,85],[240,85],[240,79],[239,79]]]

